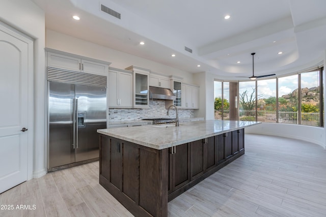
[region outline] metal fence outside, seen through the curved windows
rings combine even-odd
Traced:
[[[301,112],[301,119],[298,119],[298,112],[279,111],[277,114],[276,111],[259,110],[257,111],[257,121],[277,123],[277,115],[278,123],[299,124],[301,122],[302,125],[319,126],[319,113],[309,112]],[[255,116],[255,110],[239,111],[239,120],[241,121],[255,121]],[[222,111],[215,110],[215,119],[222,120]],[[223,120],[229,120],[228,110],[223,111]]]

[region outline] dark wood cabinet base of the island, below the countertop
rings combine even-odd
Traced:
[[[99,182],[135,216],[168,216],[169,201],[242,154],[244,127],[162,149],[101,133]]]

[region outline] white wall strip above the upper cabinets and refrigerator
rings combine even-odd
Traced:
[[[128,66],[135,65],[162,74],[177,75],[183,77],[182,82],[196,84],[193,82],[191,73],[52,30],[46,30],[45,43],[48,48],[110,62],[112,63],[110,66],[114,68],[125,69]]]

